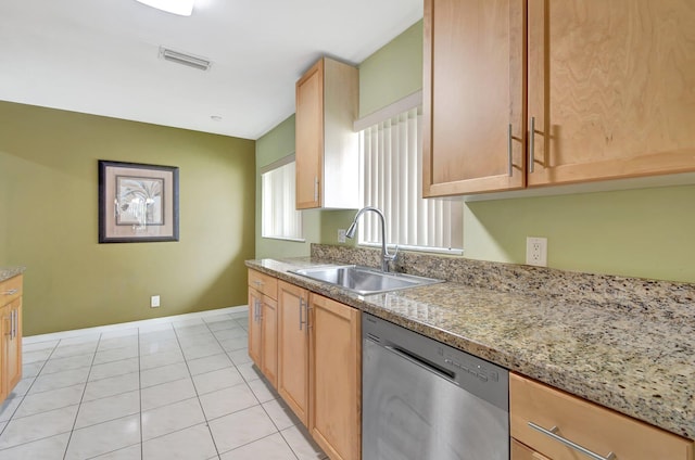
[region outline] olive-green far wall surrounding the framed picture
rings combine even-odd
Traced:
[[[254,149],[250,140],[0,102],[0,230],[9,241],[0,265],[27,267],[25,334],[244,305]],[[178,166],[180,241],[98,244],[98,159]],[[159,309],[149,307],[154,294]]]

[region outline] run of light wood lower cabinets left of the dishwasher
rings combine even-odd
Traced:
[[[359,460],[359,311],[276,282],[277,303],[257,290],[270,285],[268,280],[249,285],[249,355],[331,460]],[[271,350],[277,368],[267,366]]]

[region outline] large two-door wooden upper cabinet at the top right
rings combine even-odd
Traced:
[[[695,170],[692,24],[686,0],[426,0],[424,194]]]

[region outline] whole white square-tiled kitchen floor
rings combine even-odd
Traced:
[[[247,318],[28,337],[0,460],[325,459],[252,366]]]

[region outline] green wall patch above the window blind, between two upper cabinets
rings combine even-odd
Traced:
[[[422,21],[359,64],[359,116],[422,89]]]

